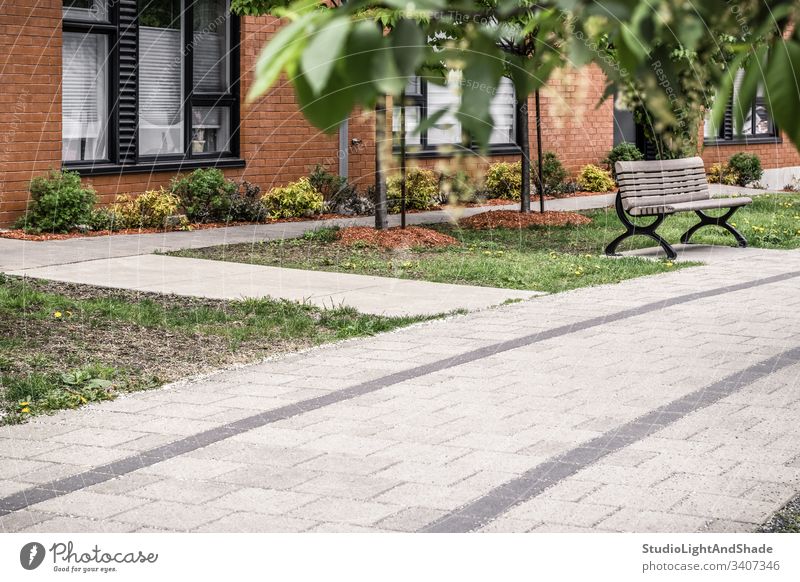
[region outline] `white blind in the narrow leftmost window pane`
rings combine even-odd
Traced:
[[[65,32],[61,58],[62,159],[105,159],[108,40],[100,34]]]

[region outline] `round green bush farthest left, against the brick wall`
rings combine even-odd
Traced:
[[[50,170],[31,180],[30,191],[28,211],[16,225],[27,232],[69,232],[87,225],[97,201],[77,172]]]

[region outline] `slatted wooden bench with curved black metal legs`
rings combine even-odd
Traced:
[[[702,227],[713,225],[730,232],[740,247],[747,246],[747,239],[728,220],[752,200],[745,197],[712,198],[702,158],[617,162],[614,169],[619,184],[615,205],[626,230],[606,247],[607,255],[616,254],[617,246],[626,238],[642,234],[660,244],[667,257],[676,258],[675,249],[656,233],[656,229],[667,215],[678,212],[694,212],[700,217],[700,222],[683,233],[682,243],[688,243]],[[704,212],[722,209],[728,210],[722,216],[709,216]],[[646,226],[639,226],[629,218],[637,216],[655,216],[655,220]]]

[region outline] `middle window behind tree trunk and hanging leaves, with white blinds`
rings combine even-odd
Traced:
[[[406,143],[412,152],[436,153],[438,146],[463,144],[461,124],[455,116],[460,102],[461,74],[451,71],[445,85],[428,83],[415,77],[406,87]],[[427,131],[418,134],[415,130],[421,120],[446,110]],[[502,79],[490,106],[494,127],[490,137],[493,149],[516,148],[516,100],[514,86],[509,79]],[[392,130],[400,132],[400,107],[392,114]]]

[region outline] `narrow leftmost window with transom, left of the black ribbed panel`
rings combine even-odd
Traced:
[[[63,13],[61,156],[65,161],[105,160],[112,31],[97,24],[108,24],[108,11],[104,0],[67,0]]]

